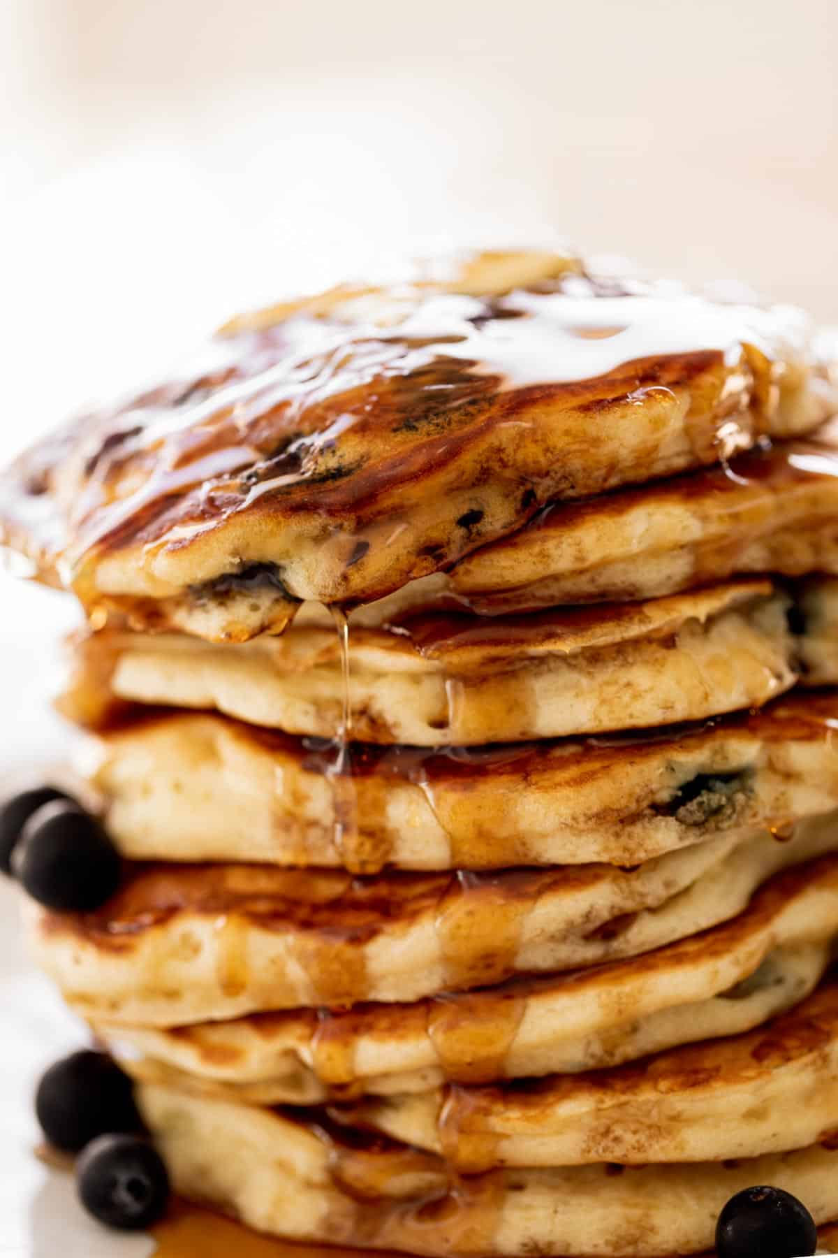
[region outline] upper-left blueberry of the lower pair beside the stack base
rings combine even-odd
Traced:
[[[50,1145],[77,1154],[106,1131],[139,1131],[131,1079],[107,1053],[83,1049],[46,1071],[35,1092]]]

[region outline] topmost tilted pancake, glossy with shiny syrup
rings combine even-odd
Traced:
[[[24,454],[3,536],[95,623],[240,642],[838,409],[800,312],[580,272],[489,255],[240,320]]]

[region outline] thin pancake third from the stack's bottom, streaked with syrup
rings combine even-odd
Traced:
[[[737,1035],[759,1027],[768,1018],[805,998],[829,964],[829,949],[822,945],[775,949],[758,969],[727,991],[661,1015],[641,1016],[637,1024],[624,1024],[613,1033],[594,1034],[552,1052],[530,1037],[533,1043],[516,1050],[516,1072],[506,1071],[498,1054],[490,1062],[484,1044],[476,1069],[456,1050],[445,1045],[445,1066],[437,1055],[422,1052],[412,1018],[405,1019],[405,1045],[397,1044],[400,1006],[386,1023],[387,1006],[364,1006],[367,1016],[349,1020],[346,1015],[324,1016],[312,1010],[299,1014],[253,1014],[231,1021],[197,1023],[186,1027],[128,1027],[113,1021],[93,1021],[92,1028],[123,1069],[136,1079],[165,1083],[202,1096],[214,1096],[245,1105],[317,1105],[322,1101],[348,1102],[359,1097],[406,1097],[425,1094],[446,1083],[447,1074],[486,1078],[550,1076],[554,1069],[568,1074],[603,1069],[624,1060],[677,1044],[695,1042],[696,1035],[714,1039]],[[513,993],[511,995],[515,995]],[[545,1006],[547,1008],[547,1006]],[[503,1023],[504,1008],[495,1006],[487,1035],[509,1038]],[[430,1006],[428,1016],[442,1010]],[[552,1014],[548,1010],[552,1018]],[[373,1027],[373,1024],[377,1024]],[[555,1028],[557,1020],[550,1025]],[[357,1032],[353,1039],[353,1029]],[[445,1028],[442,1028],[445,1030]],[[472,1044],[479,1029],[465,1027]],[[538,1040],[538,1042],[536,1042]],[[373,1054],[382,1050],[381,1073]],[[353,1057],[353,1054],[356,1054]],[[356,1059],[363,1058],[366,1073],[358,1074]],[[406,1068],[398,1069],[405,1062]],[[428,1064],[421,1064],[426,1062]],[[415,1068],[410,1068],[417,1063]],[[500,1073],[499,1073],[500,1072]],[[506,1072],[506,1073],[504,1073]],[[474,1082],[474,1079],[471,1079]]]

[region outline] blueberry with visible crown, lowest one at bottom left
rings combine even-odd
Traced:
[[[84,1209],[121,1232],[151,1227],[168,1201],[168,1175],[141,1136],[99,1136],[78,1160],[75,1186]]]

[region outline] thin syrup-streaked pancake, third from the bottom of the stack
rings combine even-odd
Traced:
[[[711,942],[730,942],[734,935],[731,930]],[[653,955],[655,960],[666,967],[667,960],[688,957],[695,966],[690,984],[697,981],[696,999],[667,1005],[660,991],[633,982],[626,989],[627,1000],[636,993],[643,995],[634,1021],[619,1021],[626,1008],[618,1008],[616,996],[613,1009],[604,1009],[601,1019],[613,1014],[612,1027],[597,1024],[569,1035],[562,1029],[568,1006],[560,994],[550,995],[544,982],[525,989],[520,981],[496,989],[499,999],[482,993],[472,1000],[428,1001],[410,1013],[411,1006],[403,1005],[361,1005],[354,1014],[300,1010],[181,1027],[93,1018],[90,1025],[134,1078],[245,1105],[423,1094],[447,1083],[479,1086],[601,1071],[680,1044],[751,1030],[805,999],[829,966],[828,945],[770,947],[770,942],[761,936],[756,951],[736,954],[734,949],[721,974],[711,965],[700,966],[695,950],[673,945]],[[607,977],[622,980],[631,972],[629,962],[621,962]],[[578,990],[602,996],[596,971]],[[510,1048],[521,1014],[528,1025]]]

